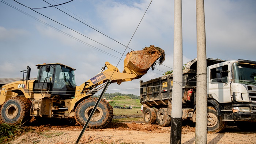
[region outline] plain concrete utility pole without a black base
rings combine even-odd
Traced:
[[[196,0],[196,144],[207,143],[207,71],[204,0]]]

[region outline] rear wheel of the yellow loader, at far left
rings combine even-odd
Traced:
[[[31,102],[25,97],[8,98],[1,107],[0,123],[12,125],[30,121]]]

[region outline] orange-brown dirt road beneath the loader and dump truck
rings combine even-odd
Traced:
[[[82,130],[73,121],[30,122],[30,129],[11,144],[74,144]],[[143,122],[110,123],[105,129],[87,129],[80,144],[169,144],[170,127],[146,125]],[[195,127],[182,127],[182,144],[195,143]],[[208,133],[208,144],[255,144],[256,131],[240,131],[227,126],[222,133]]]

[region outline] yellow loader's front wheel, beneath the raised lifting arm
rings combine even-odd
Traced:
[[[88,98],[78,104],[75,110],[75,119],[76,122],[78,122],[78,124],[83,126],[86,123],[97,100],[98,98]],[[103,128],[109,124],[112,118],[112,106],[106,100],[101,100],[101,102],[98,105],[98,108],[96,109],[95,113],[93,114],[93,117],[91,118],[90,123],[88,124],[88,127]]]

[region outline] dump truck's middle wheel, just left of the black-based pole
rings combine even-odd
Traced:
[[[157,112],[157,124],[161,127],[168,127],[171,117],[167,113],[167,108],[160,108]]]

